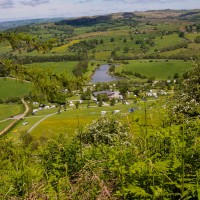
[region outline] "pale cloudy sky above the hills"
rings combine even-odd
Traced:
[[[0,0],[0,22],[158,9],[200,9],[200,0]]]

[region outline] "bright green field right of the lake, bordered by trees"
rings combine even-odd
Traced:
[[[152,62],[151,62],[152,61]],[[116,68],[117,72],[131,71],[138,72],[148,77],[155,76],[156,79],[167,79],[173,77],[175,73],[183,74],[185,70],[192,66],[192,62],[181,60],[135,60],[129,61],[127,65],[120,65]]]

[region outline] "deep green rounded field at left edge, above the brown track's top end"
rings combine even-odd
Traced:
[[[28,82],[19,82],[14,79],[0,78],[0,98],[23,97],[29,94],[31,84]]]

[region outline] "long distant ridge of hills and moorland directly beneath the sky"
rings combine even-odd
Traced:
[[[44,18],[44,19],[27,19],[18,21],[8,21],[0,22],[0,31],[5,31],[8,29],[13,29],[21,26],[26,26],[30,24],[43,24],[48,22],[53,22],[55,25],[70,25],[74,27],[80,26],[92,26],[100,23],[109,23],[114,19],[185,19],[189,21],[197,22],[200,20],[200,9],[194,10],[148,10],[148,11],[135,11],[135,12],[119,12],[112,13],[108,15],[99,16],[85,16],[77,17],[73,19],[65,18]]]

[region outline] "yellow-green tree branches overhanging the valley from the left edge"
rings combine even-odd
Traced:
[[[54,39],[40,42],[36,38],[26,34],[0,33],[0,42],[8,41],[14,50],[21,52],[26,48],[33,47],[38,51],[51,49]],[[70,91],[77,86],[81,87],[79,78],[72,79],[65,73],[57,75],[52,69],[42,69],[37,67],[25,67],[17,61],[0,59],[0,65],[6,72],[20,80],[28,80],[33,84],[32,96],[40,97],[42,100],[63,103],[65,101],[66,89]],[[76,85],[76,86],[75,86]]]

